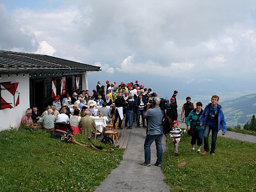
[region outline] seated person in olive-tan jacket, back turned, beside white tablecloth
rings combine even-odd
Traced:
[[[81,132],[86,138],[91,138],[92,134],[95,134],[96,124],[95,119],[90,117],[90,112],[85,111],[85,116],[81,118]]]

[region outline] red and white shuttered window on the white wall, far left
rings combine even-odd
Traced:
[[[13,108],[20,104],[18,86],[19,83],[1,84],[1,109]]]

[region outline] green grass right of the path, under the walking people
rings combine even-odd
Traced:
[[[190,141],[182,136],[176,157],[168,140],[162,168],[172,191],[256,191],[255,143],[218,137],[212,157],[191,152]]]

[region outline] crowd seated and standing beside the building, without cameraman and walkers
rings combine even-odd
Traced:
[[[80,94],[73,92],[64,95],[56,95],[53,98],[52,105],[47,106],[44,113],[40,113],[36,106],[29,108],[26,115],[22,117],[21,124],[26,126],[36,127],[42,126],[47,132],[54,131],[54,122],[67,122],[72,127],[78,127],[79,132],[83,132],[83,124],[81,119],[88,116],[99,116],[100,114],[108,118],[111,123],[113,116],[115,117],[113,124],[118,121],[118,129],[123,129],[122,121],[125,117],[125,127],[132,129],[132,124],[136,122],[137,127],[140,127],[140,116],[142,118],[142,126],[146,127],[145,122],[145,107],[147,106],[148,98],[156,96],[152,92],[152,88],[144,88],[143,84],[123,83],[119,85],[116,82],[109,84],[106,81],[106,86],[97,82],[96,89],[83,90]],[[77,128],[76,128],[77,130]],[[95,133],[95,126],[92,127],[92,133]]]

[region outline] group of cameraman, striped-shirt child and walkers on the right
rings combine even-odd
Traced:
[[[177,93],[177,91],[175,91]],[[155,141],[157,149],[157,161],[156,166],[161,166],[163,159],[163,148],[162,148],[162,138],[163,138],[163,119],[164,113],[170,118],[172,122],[172,129],[167,134],[173,141],[174,154],[179,156],[179,142],[181,134],[188,131],[191,135],[191,150],[195,150],[195,145],[197,144],[197,153],[205,156],[210,152],[211,156],[215,156],[216,141],[218,131],[222,129],[222,134],[224,135],[227,131],[225,116],[223,114],[221,106],[218,104],[218,95],[212,95],[211,103],[202,109],[202,102],[196,102],[196,106],[191,102],[191,98],[187,97],[187,102],[182,106],[180,120],[184,120],[187,128],[182,130],[179,128],[179,122],[177,120],[177,104],[175,98],[175,92],[173,97],[170,99],[170,106],[167,109],[161,109],[160,103],[161,99],[154,97],[154,102],[152,106],[147,105],[147,110],[145,112],[145,117],[147,118],[147,136],[144,143],[145,151],[145,161],[142,163],[143,166],[150,166],[150,145]],[[174,106],[174,108],[172,108]],[[168,113],[168,111],[175,111],[175,113]],[[209,148],[209,134],[212,132],[211,137],[211,150]],[[201,147],[203,145],[204,138],[204,152],[201,153]]]

